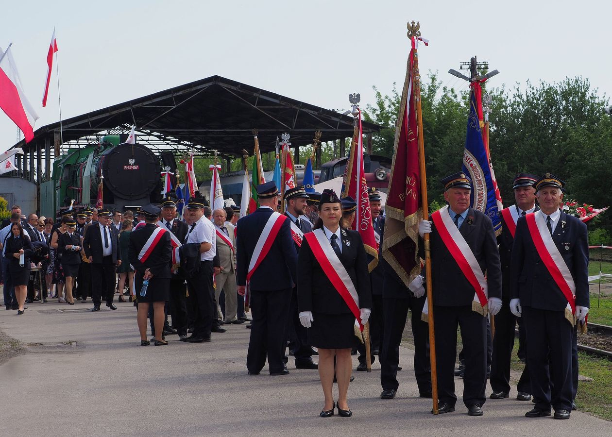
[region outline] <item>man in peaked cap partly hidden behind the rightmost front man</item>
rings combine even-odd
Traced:
[[[495,316],[495,336],[493,337],[493,353],[491,355],[490,384],[493,393],[491,399],[503,399],[510,392],[510,357],[515,340],[517,317],[510,312],[510,259],[517,220],[523,215],[539,210],[535,204],[534,184],[538,177],[535,174],[519,173],[513,182],[515,205],[501,211],[502,233],[498,236],[499,260],[501,261],[502,307]],[[520,332],[519,342],[525,345],[523,320],[518,319]],[[525,368],[517,384],[517,400],[531,400],[531,382],[529,370]]]

